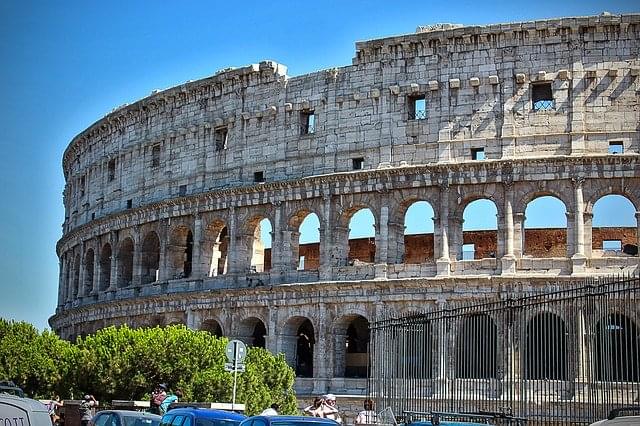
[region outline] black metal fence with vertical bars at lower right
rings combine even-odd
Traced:
[[[640,280],[560,287],[373,323],[370,397],[397,417],[507,412],[530,424],[638,404]]]

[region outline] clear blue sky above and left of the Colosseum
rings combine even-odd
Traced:
[[[57,300],[62,153],[153,89],[273,59],[290,75],[348,65],[356,40],[436,22],[637,12],[634,1],[0,2],[0,316],[42,329]]]

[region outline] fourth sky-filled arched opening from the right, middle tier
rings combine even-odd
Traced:
[[[404,263],[434,259],[433,207],[426,201],[411,204],[404,215]]]

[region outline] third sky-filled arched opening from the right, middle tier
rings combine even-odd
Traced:
[[[495,258],[498,251],[498,209],[482,198],[467,204],[462,213],[461,260]]]

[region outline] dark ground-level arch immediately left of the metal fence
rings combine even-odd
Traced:
[[[369,320],[348,314],[334,325],[334,374],[336,377],[366,378],[369,369]]]

